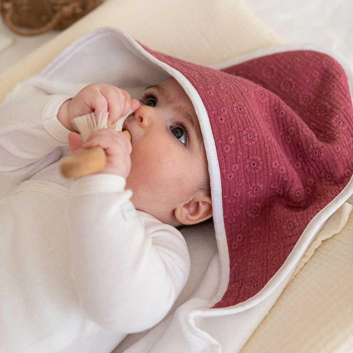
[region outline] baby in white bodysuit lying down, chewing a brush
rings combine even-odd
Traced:
[[[20,88],[21,90],[21,88]],[[132,113],[122,132],[83,144],[72,120]],[[1,352],[111,352],[155,326],[190,273],[181,225],[212,217],[198,118],[174,78],[140,100],[94,83],[76,96],[38,87],[0,107],[0,172],[19,184],[0,202]],[[101,146],[100,173],[66,180],[60,159]]]

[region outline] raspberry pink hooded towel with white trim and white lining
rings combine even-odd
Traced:
[[[317,232],[352,195],[352,71],[307,48],[269,49],[209,68],[106,27],[73,43],[37,79],[45,86],[59,77],[53,94],[105,82],[138,98],[138,87],[171,76],[192,101],[202,130],[216,284],[212,298],[194,297],[162,331],[152,328],[152,344],[142,340],[126,352],[230,352],[215,338],[227,335],[225,322],[196,324],[220,316],[236,317],[228,334],[237,342],[231,352],[238,352],[273,305],[266,299],[278,297]],[[77,90],[65,91],[65,82]],[[205,292],[211,277],[203,278]]]

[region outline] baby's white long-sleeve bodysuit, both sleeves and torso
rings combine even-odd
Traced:
[[[0,172],[18,183],[0,202],[0,352],[109,353],[167,315],[185,240],[136,211],[124,177],[64,179],[56,114],[72,96],[21,90],[0,107]]]

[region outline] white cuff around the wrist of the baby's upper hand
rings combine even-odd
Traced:
[[[44,107],[42,114],[42,123],[45,129],[51,136],[65,143],[69,143],[68,135],[71,131],[59,122],[57,113],[62,103],[71,98],[73,98],[73,96],[64,94],[53,95],[52,99]]]

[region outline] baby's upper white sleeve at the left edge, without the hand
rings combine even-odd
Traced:
[[[32,89],[0,106],[0,174],[19,183],[60,159],[70,130],[56,115],[70,98]]]

